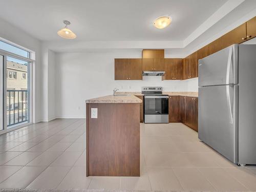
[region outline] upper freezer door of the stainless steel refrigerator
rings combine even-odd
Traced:
[[[238,45],[232,45],[198,61],[198,84],[215,86],[238,83]]]

